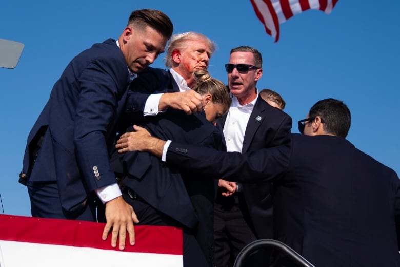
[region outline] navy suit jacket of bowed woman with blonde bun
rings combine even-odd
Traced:
[[[184,111],[168,109],[158,116],[149,116],[139,125],[161,139],[173,138],[185,144],[225,150],[222,132],[207,121],[203,113],[189,116]],[[205,205],[214,201],[214,177],[205,179],[192,171],[179,171],[147,152],[126,152],[119,156],[119,163],[128,175],[124,185],[132,188],[151,206],[189,228],[198,223],[196,203]],[[121,168],[115,169],[121,171]],[[190,198],[202,201],[192,204]]]

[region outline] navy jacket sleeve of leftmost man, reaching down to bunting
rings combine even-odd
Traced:
[[[128,70],[122,60],[117,56],[95,59],[79,77],[74,145],[89,190],[115,182],[107,139],[115,135],[116,106],[128,86]]]

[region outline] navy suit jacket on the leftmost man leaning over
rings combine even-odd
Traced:
[[[79,212],[90,192],[115,183],[109,151],[128,83],[128,67],[115,40],[94,44],[65,68],[29,133],[22,171],[32,182],[57,181],[67,212]]]

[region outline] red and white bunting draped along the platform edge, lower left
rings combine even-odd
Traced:
[[[135,226],[124,251],[102,240],[104,223],[0,215],[0,267],[183,266],[182,230]]]

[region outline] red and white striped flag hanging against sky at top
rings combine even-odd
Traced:
[[[332,12],[338,0],[250,0],[265,31],[279,40],[279,24],[308,9]]]

